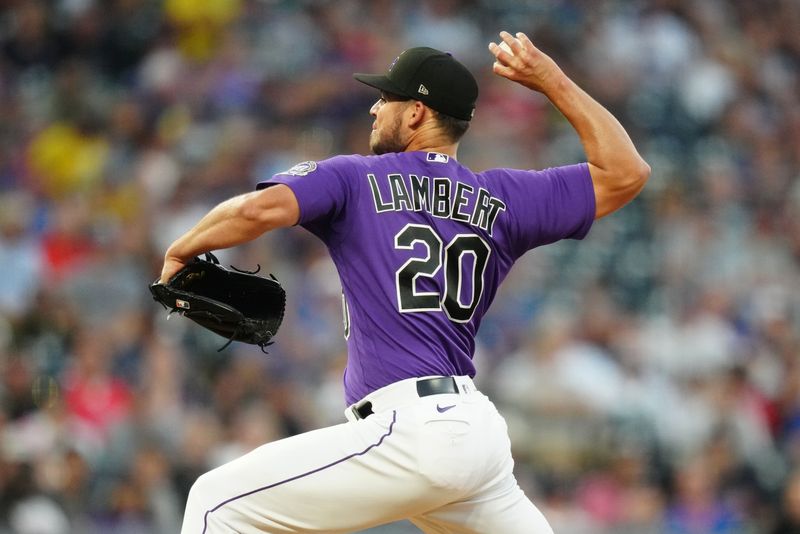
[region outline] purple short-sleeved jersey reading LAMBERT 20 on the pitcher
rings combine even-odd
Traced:
[[[595,214],[586,164],[474,173],[434,152],[337,156],[258,187],[278,183],[339,271],[348,403],[406,378],[474,376],[475,334],[514,261],[583,238]]]

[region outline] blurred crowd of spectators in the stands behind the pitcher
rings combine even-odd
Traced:
[[[200,473],[343,420],[339,282],[311,234],[220,254],[287,287],[268,356],[217,352],[147,285],[217,202],[367,153],[376,94],[351,73],[409,46],[479,78],[463,163],[583,161],[491,74],[501,29],[653,168],[585,241],[525,256],[482,325],[520,483],[560,533],[800,532],[800,2],[3,0],[0,533],[174,533]]]

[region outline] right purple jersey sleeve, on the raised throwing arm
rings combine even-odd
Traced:
[[[595,215],[595,197],[586,163],[541,171],[492,169],[484,173],[502,191],[507,228],[517,256],[560,239],[582,239]]]

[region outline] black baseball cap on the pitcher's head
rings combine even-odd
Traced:
[[[353,74],[353,78],[381,91],[419,100],[431,109],[457,119],[475,113],[478,83],[451,54],[435,48],[409,48],[384,74]]]

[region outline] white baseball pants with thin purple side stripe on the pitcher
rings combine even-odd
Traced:
[[[263,445],[197,479],[182,534],[354,532],[409,519],[429,533],[552,534],[512,473],[505,421],[468,377],[419,397],[370,394],[374,413]],[[361,405],[356,403],[356,405]]]

